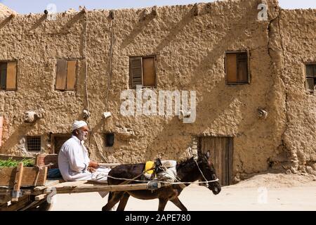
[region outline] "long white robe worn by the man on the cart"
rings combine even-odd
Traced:
[[[96,172],[88,172],[88,150],[84,147],[84,141],[76,136],[67,140],[58,154],[58,167],[65,181],[97,181],[107,183],[107,174],[110,168],[98,167]],[[100,195],[103,195],[100,193]]]

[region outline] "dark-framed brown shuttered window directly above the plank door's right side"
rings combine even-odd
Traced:
[[[225,53],[226,84],[249,84],[246,52]]]

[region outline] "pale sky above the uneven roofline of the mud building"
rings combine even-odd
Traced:
[[[69,8],[78,10],[79,6],[92,9],[144,8],[149,6],[170,6],[194,4],[196,2],[211,2],[214,0],[0,0],[0,3],[14,11],[27,13],[42,13],[49,4],[55,4],[57,12]],[[316,8],[316,0],[279,0],[282,8]]]

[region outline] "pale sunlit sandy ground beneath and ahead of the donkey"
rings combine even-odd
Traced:
[[[51,210],[100,211],[107,197],[98,193],[60,194],[54,196]],[[190,211],[215,210],[316,210],[316,179],[313,176],[263,174],[232,186],[219,195],[195,184],[185,188],[180,200]],[[158,200],[129,198],[126,210],[157,210]],[[178,211],[173,203],[166,210]]]

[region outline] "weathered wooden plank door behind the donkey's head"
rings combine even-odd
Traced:
[[[232,141],[228,137],[199,138],[199,150],[202,153],[209,151],[209,160],[213,163],[222,186],[230,185],[232,180]]]

